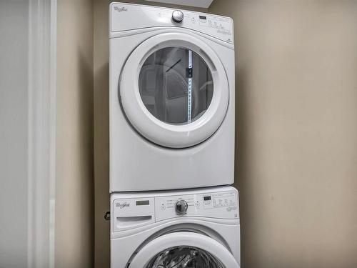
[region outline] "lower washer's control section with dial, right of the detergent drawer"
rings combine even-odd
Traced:
[[[185,213],[177,211],[185,206]],[[155,197],[156,222],[174,217],[212,217],[218,219],[238,218],[238,199],[236,192],[213,192],[205,194]]]

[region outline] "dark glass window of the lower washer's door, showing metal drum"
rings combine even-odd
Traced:
[[[171,247],[156,254],[145,268],[225,268],[212,254],[196,247]]]

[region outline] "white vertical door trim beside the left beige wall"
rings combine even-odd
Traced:
[[[57,2],[28,1],[28,268],[52,268],[56,177]]]

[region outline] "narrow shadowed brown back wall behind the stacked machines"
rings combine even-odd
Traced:
[[[149,1],[126,3],[173,6]],[[109,267],[109,0],[94,0],[95,267]],[[184,6],[178,6],[184,9]],[[193,9],[188,8],[186,9]],[[206,9],[196,9],[207,11]]]

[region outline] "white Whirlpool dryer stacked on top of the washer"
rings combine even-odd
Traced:
[[[110,5],[110,191],[233,183],[233,21]]]

